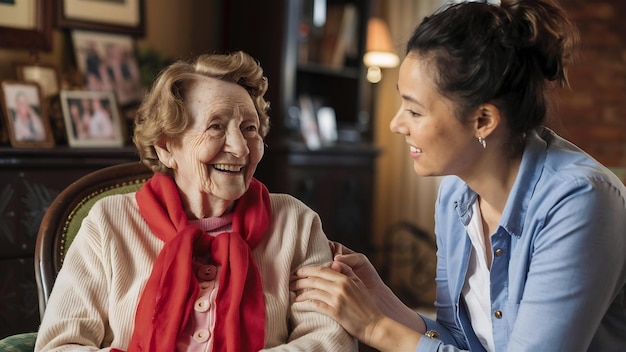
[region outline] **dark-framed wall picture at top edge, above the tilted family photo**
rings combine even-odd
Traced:
[[[144,0],[57,0],[57,25],[144,35]]]

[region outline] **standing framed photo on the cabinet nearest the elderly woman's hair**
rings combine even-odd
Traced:
[[[61,109],[70,147],[121,147],[122,124],[112,92],[61,90]]]

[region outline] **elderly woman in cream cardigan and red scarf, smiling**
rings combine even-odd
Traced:
[[[267,80],[243,52],[161,73],[134,142],[155,171],[97,202],[69,249],[37,351],[350,351],[335,321],[290,302],[289,280],[329,263],[318,216],[253,178]]]

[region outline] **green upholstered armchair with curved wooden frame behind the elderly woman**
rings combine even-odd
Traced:
[[[67,249],[93,204],[100,198],[137,191],[152,171],[139,162],[109,166],[89,173],[67,186],[44,214],[35,244],[35,280],[41,317]],[[0,340],[0,351],[32,352],[36,332]]]

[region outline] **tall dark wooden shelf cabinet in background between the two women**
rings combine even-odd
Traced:
[[[329,238],[366,253],[378,155],[363,94],[369,6],[367,0],[229,0],[222,38],[223,51],[248,52],[268,77],[272,129],[257,178],[316,210]],[[342,38],[346,28],[349,38]],[[307,148],[298,114],[303,96],[334,110],[336,143]]]

